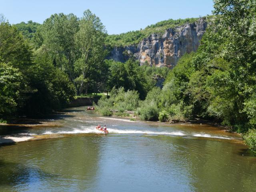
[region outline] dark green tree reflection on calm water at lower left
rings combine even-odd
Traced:
[[[90,187],[96,180],[100,140],[75,136],[2,148],[0,191],[79,191]]]

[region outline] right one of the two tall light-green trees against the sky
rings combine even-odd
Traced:
[[[76,46],[80,52],[80,59],[76,68],[80,76],[76,79],[79,83],[79,92],[84,89],[87,93],[90,82],[100,82],[100,69],[106,56],[104,41],[107,36],[105,26],[90,10],[84,11],[84,16],[79,21],[80,29],[76,34]]]

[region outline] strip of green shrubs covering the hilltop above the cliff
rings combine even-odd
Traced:
[[[110,46],[127,46],[127,45],[137,45],[142,39],[147,38],[150,34],[157,33],[163,34],[168,28],[174,28],[176,26],[181,26],[186,23],[196,22],[198,18],[186,18],[178,20],[164,20],[156,24],[147,26],[145,29],[140,29],[136,31],[129,31],[121,34],[108,35],[106,38],[106,44]]]

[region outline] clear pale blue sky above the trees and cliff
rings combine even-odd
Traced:
[[[90,9],[100,17],[108,34],[120,34],[150,24],[178,18],[211,14],[212,0],[0,0],[0,13],[11,24],[42,23],[51,14],[74,13],[81,17]]]

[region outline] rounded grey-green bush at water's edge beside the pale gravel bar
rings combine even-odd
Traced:
[[[143,106],[138,109],[138,115],[142,120],[157,121],[158,120],[158,108],[155,104],[149,106]]]

